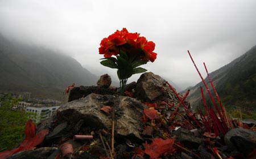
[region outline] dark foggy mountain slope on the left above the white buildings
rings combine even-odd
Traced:
[[[0,35],[0,92],[32,92],[60,99],[64,88],[96,85],[98,77],[75,59],[38,46],[22,45]]]

